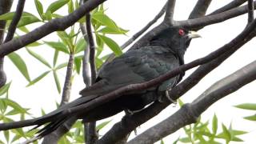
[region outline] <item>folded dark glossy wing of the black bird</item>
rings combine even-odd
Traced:
[[[179,66],[178,58],[161,46],[145,46],[130,50],[107,64],[94,86],[80,92],[83,96],[102,95],[119,87],[146,82]],[[161,90],[173,86],[177,78],[163,82]]]

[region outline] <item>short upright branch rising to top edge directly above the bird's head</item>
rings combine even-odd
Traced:
[[[166,16],[164,22],[172,25],[174,23],[174,8],[176,0],[168,0],[166,3]]]

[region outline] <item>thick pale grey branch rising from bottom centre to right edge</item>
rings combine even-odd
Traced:
[[[196,122],[197,118],[214,102],[233,93],[242,86],[256,79],[256,61],[242,69],[230,74],[226,78],[215,82],[205,92],[203,92],[194,102],[182,106],[175,114],[166,120],[139,134],[136,138],[128,142],[129,144],[150,144],[158,142],[161,138],[173,134],[183,126]],[[179,121],[177,121],[177,119]]]

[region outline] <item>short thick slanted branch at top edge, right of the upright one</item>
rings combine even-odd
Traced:
[[[211,1],[212,0],[198,0],[197,4],[194,6],[194,9],[190,13],[189,19],[205,16]]]

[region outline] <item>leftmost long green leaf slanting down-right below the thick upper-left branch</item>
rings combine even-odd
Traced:
[[[11,62],[18,68],[18,70],[22,73],[22,75],[26,78],[28,82],[30,82],[30,74],[26,68],[26,63],[23,61],[22,57],[20,57],[16,53],[8,54],[8,58],[10,58]]]

